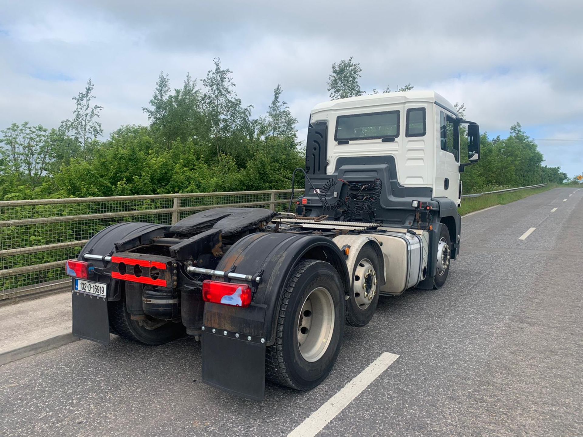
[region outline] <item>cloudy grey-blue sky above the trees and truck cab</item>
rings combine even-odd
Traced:
[[[436,90],[482,131],[519,121],[547,165],[583,171],[581,0],[0,0],[0,128],[57,126],[89,77],[106,132],[146,124],[160,71],[180,87],[220,57],[255,115],[282,84],[303,133],[350,55],[369,92]]]

